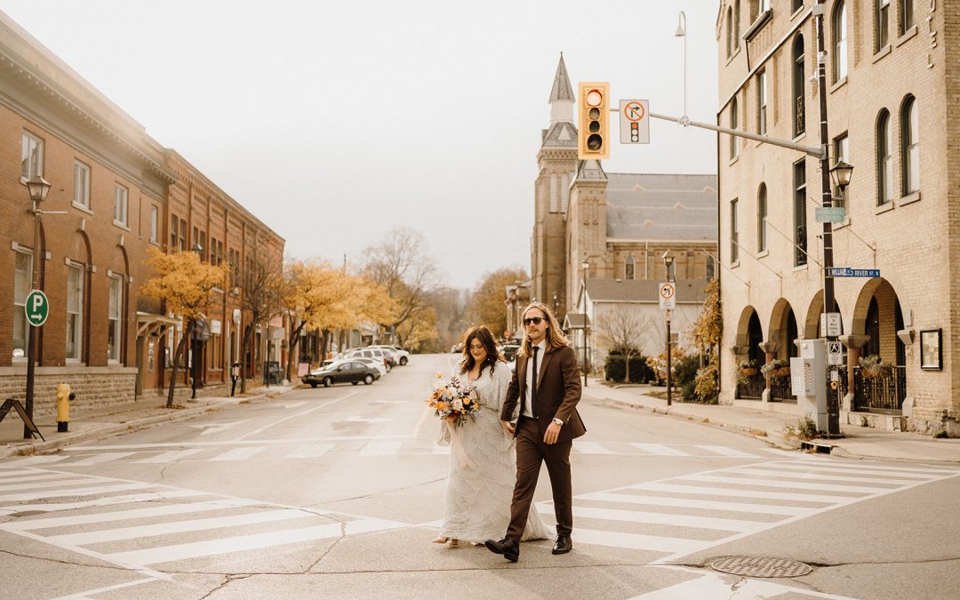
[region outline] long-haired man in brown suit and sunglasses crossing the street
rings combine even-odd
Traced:
[[[507,389],[500,420],[516,438],[516,485],[510,507],[510,525],[503,540],[487,540],[491,552],[516,563],[520,537],[537,489],[540,463],[546,465],[557,516],[554,554],[573,548],[573,492],[570,485],[570,448],[573,439],[587,433],[577,413],[580,374],[573,348],[568,346],[557,319],[546,304],[534,302],[523,310],[524,336],[516,352],[516,369]],[[520,402],[516,426],[513,419]],[[536,509],[534,509],[536,510]]]

